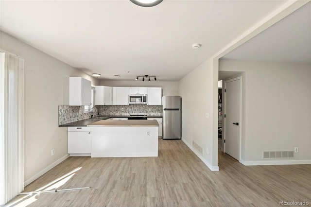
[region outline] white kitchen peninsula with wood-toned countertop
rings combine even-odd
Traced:
[[[158,123],[155,120],[101,120],[91,131],[91,157],[157,156]]]

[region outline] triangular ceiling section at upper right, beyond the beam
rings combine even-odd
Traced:
[[[222,58],[311,63],[311,2]]]

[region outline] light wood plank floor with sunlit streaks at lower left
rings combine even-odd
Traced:
[[[311,206],[311,165],[243,166],[220,152],[220,171],[211,172],[181,140],[158,141],[158,157],[69,157],[25,191],[78,167],[82,168],[57,188],[91,189],[28,196],[16,205],[34,201],[29,206],[273,207],[286,200],[308,201]]]

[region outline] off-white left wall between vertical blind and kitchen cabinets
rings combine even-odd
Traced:
[[[58,127],[58,105],[64,104],[64,79],[82,76],[78,69],[0,33],[0,49],[24,58],[24,180],[67,155],[67,127]],[[51,150],[55,155],[51,156]]]

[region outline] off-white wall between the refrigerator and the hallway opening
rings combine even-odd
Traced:
[[[200,157],[198,153],[196,154],[203,158],[211,170],[218,170],[217,145],[215,145],[218,136],[218,92],[214,91],[218,91],[218,70],[215,74],[214,67],[215,63],[210,59],[191,71],[179,81],[179,95],[182,97],[182,139],[194,152],[197,150],[192,147],[192,141],[200,145],[203,148],[203,155]],[[217,77],[214,77],[215,75]],[[206,118],[206,113],[209,118]]]

